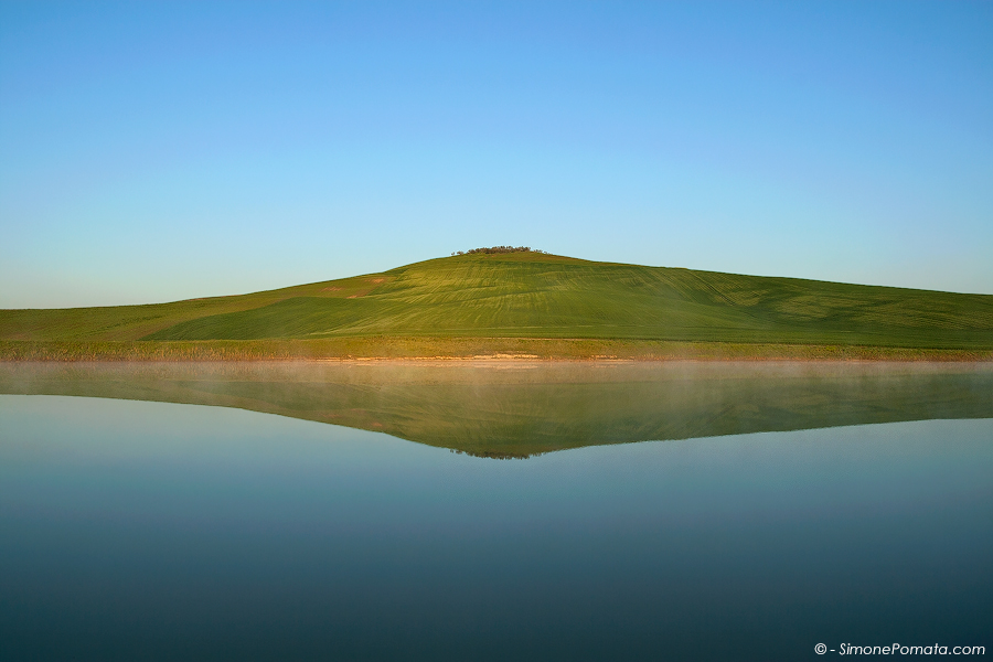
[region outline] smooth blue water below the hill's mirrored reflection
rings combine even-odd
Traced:
[[[237,409],[0,395],[3,660],[993,651],[991,559],[993,419],[499,461]]]

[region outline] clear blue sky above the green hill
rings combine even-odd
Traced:
[[[0,0],[0,308],[504,244],[993,293],[993,3]]]

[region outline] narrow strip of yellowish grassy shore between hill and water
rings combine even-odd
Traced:
[[[606,339],[343,338],[225,341],[0,341],[2,362],[993,362],[993,349]]]

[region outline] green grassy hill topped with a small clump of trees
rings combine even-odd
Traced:
[[[0,311],[0,341],[401,337],[989,350],[993,296],[512,253],[459,255],[236,297]]]

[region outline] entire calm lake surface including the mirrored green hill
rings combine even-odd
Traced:
[[[993,369],[0,364],[4,660],[986,645]]]

